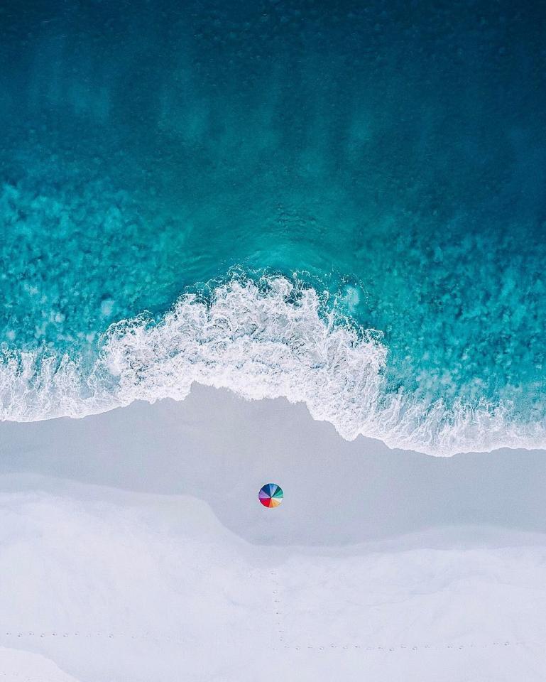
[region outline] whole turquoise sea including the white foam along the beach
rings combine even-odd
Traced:
[[[2,416],[201,380],[347,438],[545,444],[545,18],[4,4]]]

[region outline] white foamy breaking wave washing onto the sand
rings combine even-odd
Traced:
[[[187,293],[160,320],[111,325],[99,354],[38,357],[4,351],[0,418],[83,417],[135,400],[183,400],[193,382],[246,399],[303,402],[346,440],[358,435],[430,455],[546,444],[542,423],[520,423],[509,404],[426,404],[388,389],[381,332],[358,328],[326,294],[284,277],[233,278],[204,298]]]

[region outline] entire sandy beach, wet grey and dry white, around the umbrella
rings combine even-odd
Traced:
[[[545,482],[200,386],[2,423],[0,681],[543,681]]]

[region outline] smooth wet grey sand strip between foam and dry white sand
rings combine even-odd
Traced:
[[[190,494],[251,542],[339,545],[460,525],[546,531],[546,452],[437,458],[362,436],[346,441],[285,399],[248,401],[194,384],[185,401],[4,422],[0,435],[3,474]],[[269,481],[285,489],[282,525],[271,515],[256,525],[254,498]]]

